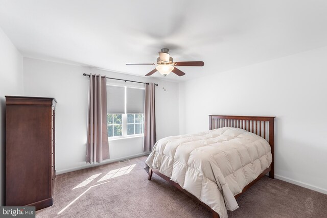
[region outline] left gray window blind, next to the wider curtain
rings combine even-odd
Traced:
[[[125,113],[125,87],[107,85],[107,113]]]

